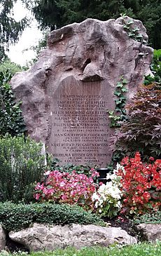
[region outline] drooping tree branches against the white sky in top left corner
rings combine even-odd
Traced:
[[[0,62],[6,57],[5,51],[8,50],[10,43],[18,41],[18,37],[25,28],[27,19],[16,22],[11,17],[13,4],[17,0],[0,0]]]

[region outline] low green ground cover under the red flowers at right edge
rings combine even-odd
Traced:
[[[134,224],[148,223],[148,224],[161,224],[161,211],[155,211],[153,213],[146,213],[140,215],[133,220]]]

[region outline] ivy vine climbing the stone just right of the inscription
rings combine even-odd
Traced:
[[[109,119],[111,120],[110,127],[120,127],[120,121],[126,119],[126,97],[127,93],[127,80],[121,76],[120,81],[116,85],[114,95],[116,95],[116,109],[114,111],[107,111],[109,113]]]

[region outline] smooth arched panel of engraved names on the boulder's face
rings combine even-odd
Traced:
[[[106,112],[111,97],[104,90],[98,91],[98,82],[80,84],[71,80],[62,83],[53,102],[52,144],[49,145],[53,156],[63,164],[106,166],[111,159],[112,133]]]

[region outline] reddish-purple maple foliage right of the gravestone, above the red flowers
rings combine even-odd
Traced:
[[[127,121],[116,131],[117,154],[120,151],[134,155],[161,157],[161,84],[142,86],[127,106]]]

